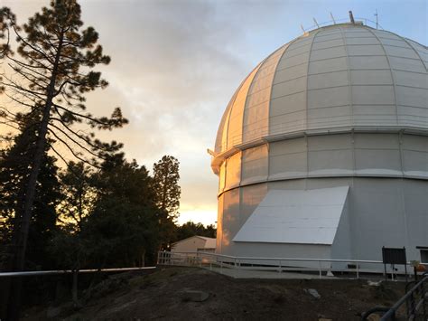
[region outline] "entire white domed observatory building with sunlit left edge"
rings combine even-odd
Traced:
[[[363,24],[304,33],[224,112],[217,250],[239,257],[428,262],[427,47]]]

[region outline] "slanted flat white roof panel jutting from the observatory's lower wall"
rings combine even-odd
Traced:
[[[233,241],[331,245],[348,190],[271,190]]]

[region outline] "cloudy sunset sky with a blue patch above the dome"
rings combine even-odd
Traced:
[[[0,0],[18,22],[48,0]],[[130,123],[105,140],[125,144],[126,158],[151,169],[163,155],[180,161],[178,222],[217,221],[218,177],[211,172],[220,118],[239,83],[259,61],[312,27],[348,18],[427,45],[428,1],[349,0],[81,0],[112,61],[98,68],[106,90],[88,95],[88,110],[107,115],[121,107]]]

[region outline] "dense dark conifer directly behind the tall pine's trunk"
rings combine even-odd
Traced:
[[[10,146],[2,151],[0,158],[0,226],[1,261],[5,263],[12,253],[15,228],[19,224],[16,212],[22,203],[23,191],[28,183],[28,168],[32,164],[36,131],[33,126],[37,122],[34,115],[21,115],[21,132],[15,136]],[[57,230],[56,207],[62,194],[58,181],[59,168],[53,156],[43,155],[42,167],[37,177],[34,194],[31,225],[28,231],[28,249],[25,268],[51,269],[52,258],[48,253],[54,232]],[[10,285],[10,282],[5,282]],[[0,302],[7,302],[7,291],[0,292]],[[5,308],[5,307],[3,307]],[[3,312],[5,313],[5,311]]]

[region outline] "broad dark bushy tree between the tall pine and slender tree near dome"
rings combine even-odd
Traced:
[[[160,239],[159,217],[152,177],[135,160],[112,156],[96,175],[98,199],[83,225],[91,241],[90,255],[98,268],[129,266],[154,260]],[[153,263],[153,262],[152,262]]]

